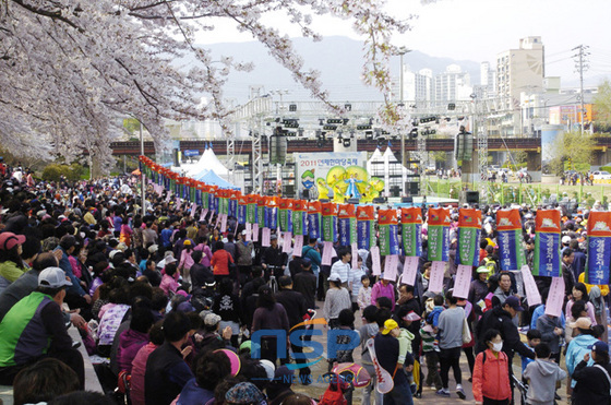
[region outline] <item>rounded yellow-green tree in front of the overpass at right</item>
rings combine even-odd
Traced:
[[[594,157],[595,139],[588,133],[564,132],[559,135],[552,146],[550,168],[552,172],[561,175],[564,163],[571,159],[573,167],[589,167]]]

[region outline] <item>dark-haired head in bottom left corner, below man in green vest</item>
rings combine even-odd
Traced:
[[[13,401],[15,405],[38,404],[73,391],[79,391],[76,373],[60,360],[45,358],[17,373]]]

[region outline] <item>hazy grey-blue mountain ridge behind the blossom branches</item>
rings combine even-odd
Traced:
[[[342,36],[325,37],[320,43],[307,38],[293,38],[295,48],[303,57],[306,70],[315,69],[321,72],[321,80],[328,91],[332,100],[381,100],[382,94],[375,88],[364,85],[361,81],[363,64],[362,44]],[[232,72],[225,87],[226,98],[235,98],[237,103],[249,99],[249,86],[261,85],[265,93],[269,91],[286,90],[285,100],[308,100],[310,95],[290,73],[278,64],[268,53],[267,49],[259,41],[250,43],[219,43],[202,45],[209,49],[213,60],[220,56],[232,56],[236,61],[255,64],[251,72]],[[190,64],[191,60],[181,59],[179,64]],[[404,63],[409,64],[412,71],[429,68],[433,74],[445,71],[448,64],[460,65],[471,76],[471,84],[479,84],[479,62],[470,60],[454,60],[450,58],[435,58],[418,50],[404,56]],[[398,76],[399,57],[394,57],[391,71]],[[263,93],[263,94],[265,94]]]

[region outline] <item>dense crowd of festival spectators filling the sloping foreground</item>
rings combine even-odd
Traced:
[[[373,275],[368,250],[358,251],[355,266],[350,247],[335,243],[332,264],[323,265],[315,238],[296,252],[273,231],[263,247],[236,218],[223,226],[215,213],[191,212],[191,204],[152,188],[142,212],[131,181],[33,183],[7,170],[0,384],[15,388],[16,404],[79,403],[86,395],[146,405],[343,404],[361,385],[366,405],[409,404],[427,386],[434,388],[430,397],[465,400],[463,355],[476,403],[513,403],[515,386],[527,386],[531,404],[551,404],[561,394],[575,404],[609,402],[609,288],[584,284],[588,212],[563,211],[566,300],[563,314],[553,317],[544,305],[550,277],[535,277],[543,303],[529,306],[522,274],[501,271],[494,206],[481,207],[480,264],[468,297],[456,297],[457,209],[444,288],[431,291],[426,223],[418,275],[407,285],[392,274]],[[537,210],[518,209],[531,264]],[[358,353],[358,368],[370,377],[369,384],[335,384],[342,400],[331,400],[333,383],[321,398],[293,390],[316,379],[311,358],[302,356],[314,317],[336,331],[327,334],[338,349],[324,372],[342,374]],[[289,338],[295,330],[306,331],[301,342]],[[81,342],[112,400],[84,391]],[[512,367],[516,352],[522,372]],[[291,362],[297,367],[287,367]],[[381,370],[393,380],[384,394]],[[560,393],[564,379],[566,393]]]

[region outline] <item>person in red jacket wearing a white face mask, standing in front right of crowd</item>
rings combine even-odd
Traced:
[[[507,355],[502,352],[501,332],[490,329],[484,332],[482,342],[487,349],[476,358],[474,368],[474,397],[476,404],[508,405],[512,401],[510,367]]]

